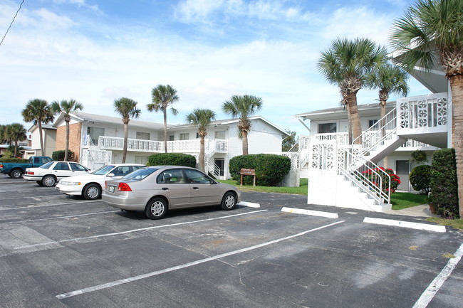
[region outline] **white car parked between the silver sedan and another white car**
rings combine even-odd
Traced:
[[[110,164],[90,174],[70,176],[56,185],[56,190],[70,196],[83,196],[88,200],[101,198],[106,180],[120,179],[133,171],[144,168],[142,164]]]

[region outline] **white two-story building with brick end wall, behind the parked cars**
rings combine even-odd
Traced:
[[[281,143],[288,133],[264,117],[251,117],[249,154],[281,152]],[[206,169],[219,179],[229,178],[229,160],[242,154],[238,130],[239,120],[213,121],[205,139]],[[66,122],[63,114],[56,117],[56,149],[64,149]],[[126,162],[146,164],[154,153],[164,153],[164,125],[140,120],[128,124]],[[119,117],[72,112],[69,125],[69,149],[75,159],[89,168],[118,163],[123,159],[123,122]],[[197,127],[189,124],[167,125],[167,152],[192,154],[199,158]]]

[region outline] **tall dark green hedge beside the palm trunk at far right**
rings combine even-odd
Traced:
[[[457,218],[457,163],[454,149],[440,149],[432,155],[430,203],[437,206],[437,214]]]

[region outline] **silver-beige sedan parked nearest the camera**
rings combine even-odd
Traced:
[[[125,211],[145,211],[160,219],[169,209],[220,205],[231,210],[241,192],[222,184],[198,169],[185,166],[150,166],[132,172],[118,181],[108,180],[103,203]]]

